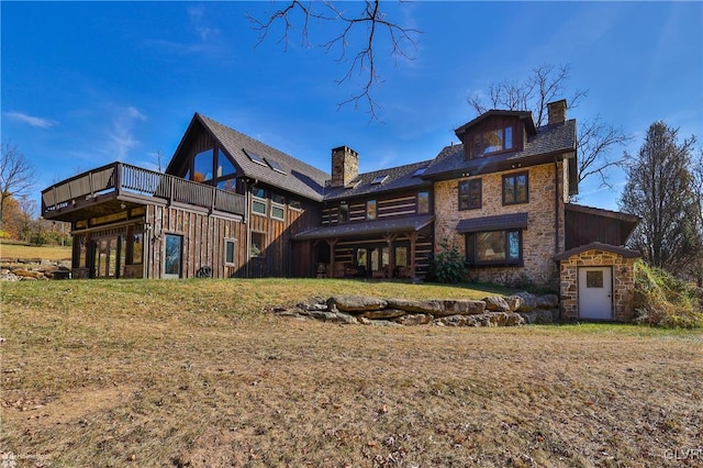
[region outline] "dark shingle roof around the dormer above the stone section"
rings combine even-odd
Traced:
[[[481,172],[496,165],[529,165],[535,156],[576,151],[576,120],[559,124],[544,125],[537,134],[527,137],[521,152],[502,153],[475,159],[464,158],[464,145],[444,147],[432,163],[424,177],[450,175],[453,172]],[[436,177],[433,177],[436,178]]]

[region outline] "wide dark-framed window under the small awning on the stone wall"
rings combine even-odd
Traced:
[[[522,231],[489,231],[466,235],[467,261],[470,265],[520,265]]]

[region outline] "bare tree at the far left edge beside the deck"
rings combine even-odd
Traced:
[[[0,223],[5,202],[12,197],[25,197],[36,185],[34,168],[16,145],[2,141],[0,158]]]

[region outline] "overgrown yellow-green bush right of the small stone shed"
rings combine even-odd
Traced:
[[[638,261],[635,264],[635,321],[663,327],[703,327],[699,292],[671,274]]]

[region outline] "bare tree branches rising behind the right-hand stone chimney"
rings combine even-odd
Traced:
[[[535,124],[542,126],[547,121],[547,104],[566,99],[569,109],[574,109],[588,96],[588,91],[577,89],[568,96],[568,81],[571,78],[569,65],[555,66],[543,64],[533,68],[523,81],[501,81],[492,83],[488,98],[475,94],[468,98],[469,104],[478,114],[490,109],[512,111],[532,111]],[[583,119],[579,122],[577,145],[579,151],[578,180],[582,182],[591,176],[600,176],[601,187],[612,188],[607,169],[622,166],[622,158],[612,158],[610,153],[632,140],[622,129],[610,125],[600,116]]]

